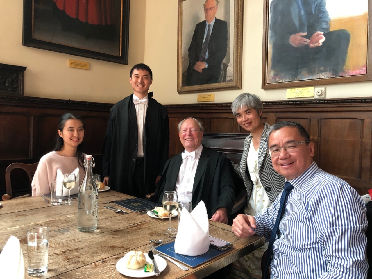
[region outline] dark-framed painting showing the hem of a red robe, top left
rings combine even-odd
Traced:
[[[129,0],[91,4],[23,0],[22,45],[128,64]]]

